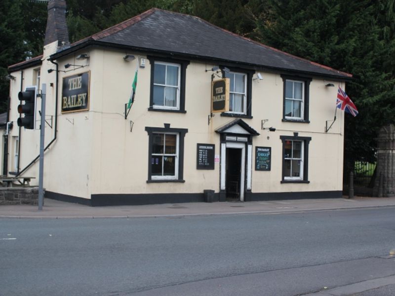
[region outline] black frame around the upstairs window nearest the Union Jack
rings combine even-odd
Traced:
[[[312,82],[313,78],[305,77],[305,76],[297,76],[297,75],[288,75],[281,74],[281,78],[283,81],[283,90],[282,90],[282,121],[285,122],[301,122],[301,123],[310,123],[309,120],[309,102],[310,102],[310,82]],[[304,102],[303,102],[303,118],[286,118],[285,117],[285,89],[286,89],[286,81],[287,80],[296,80],[304,83]]]

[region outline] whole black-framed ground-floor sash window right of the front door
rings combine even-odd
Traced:
[[[297,134],[297,133],[295,133]],[[282,141],[282,181],[308,183],[310,137],[280,136]]]

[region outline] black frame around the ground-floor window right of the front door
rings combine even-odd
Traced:
[[[295,133],[297,134],[297,133]],[[309,144],[312,140],[311,137],[299,137],[298,135],[294,136],[280,136],[280,140],[282,142],[282,153],[281,153],[281,161],[282,161],[282,171],[281,171],[281,183],[310,183],[309,181]],[[284,179],[285,172],[285,141],[302,141],[303,145],[303,180],[288,180]]]

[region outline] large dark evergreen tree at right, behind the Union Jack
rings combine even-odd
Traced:
[[[380,17],[389,2],[268,0],[268,14],[256,16],[263,43],[354,75],[346,91],[359,115],[346,114],[345,172],[357,158],[375,159],[377,131],[394,121],[394,39],[383,37],[391,29]]]

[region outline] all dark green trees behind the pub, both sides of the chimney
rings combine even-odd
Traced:
[[[353,74],[346,91],[359,115],[345,115],[346,172],[356,159],[374,161],[378,129],[395,120],[395,0],[67,0],[70,41],[152,7],[195,15]],[[42,53],[46,13],[44,3],[0,1],[0,112],[7,66]]]

